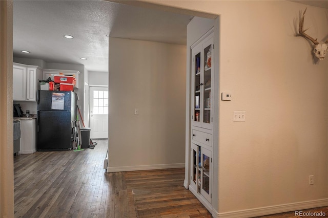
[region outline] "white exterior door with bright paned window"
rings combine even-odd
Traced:
[[[90,138],[108,138],[108,87],[90,86]]]

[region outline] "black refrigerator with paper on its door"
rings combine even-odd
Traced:
[[[37,149],[70,150],[71,123],[76,118],[76,94],[39,90],[37,95]]]

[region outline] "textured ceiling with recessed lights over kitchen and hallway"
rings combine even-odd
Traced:
[[[108,71],[109,36],[186,45],[192,18],[103,1],[14,1],[13,10],[14,57],[84,64],[100,72]]]

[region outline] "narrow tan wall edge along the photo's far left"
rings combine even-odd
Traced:
[[[0,217],[14,217],[12,2],[0,1]]]

